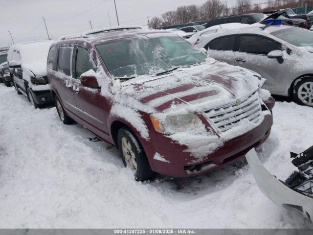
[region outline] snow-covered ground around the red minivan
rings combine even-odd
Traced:
[[[259,149],[285,179],[289,151],[313,145],[313,109],[277,102],[272,133]],[[134,181],[117,150],[55,108],[35,110],[0,84],[0,228],[313,228],[274,205],[244,161],[191,179]]]

